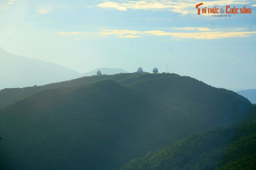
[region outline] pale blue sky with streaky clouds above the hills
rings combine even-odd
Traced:
[[[219,13],[208,11],[214,7]],[[234,7],[238,13],[226,13]],[[0,47],[80,73],[157,67],[256,89],[256,0],[0,0]]]

